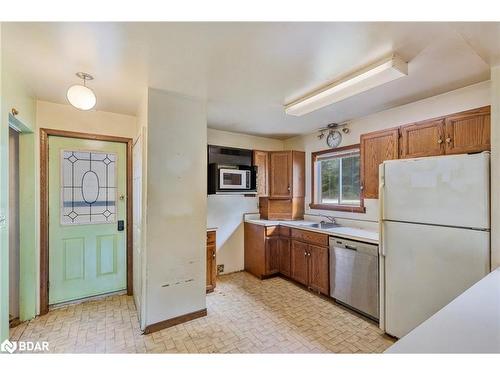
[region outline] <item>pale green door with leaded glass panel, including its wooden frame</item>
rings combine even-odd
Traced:
[[[132,295],[132,139],[40,129],[40,314]]]

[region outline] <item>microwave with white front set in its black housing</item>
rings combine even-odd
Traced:
[[[208,194],[255,193],[257,167],[208,165]]]

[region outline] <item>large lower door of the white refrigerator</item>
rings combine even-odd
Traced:
[[[385,331],[403,337],[490,269],[490,233],[384,222]]]

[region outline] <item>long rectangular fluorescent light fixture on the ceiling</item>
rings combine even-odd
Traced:
[[[407,75],[408,64],[392,55],[285,105],[285,112],[302,116]]]

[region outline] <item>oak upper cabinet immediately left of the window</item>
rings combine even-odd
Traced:
[[[273,151],[269,153],[269,198],[305,196],[305,153]]]

